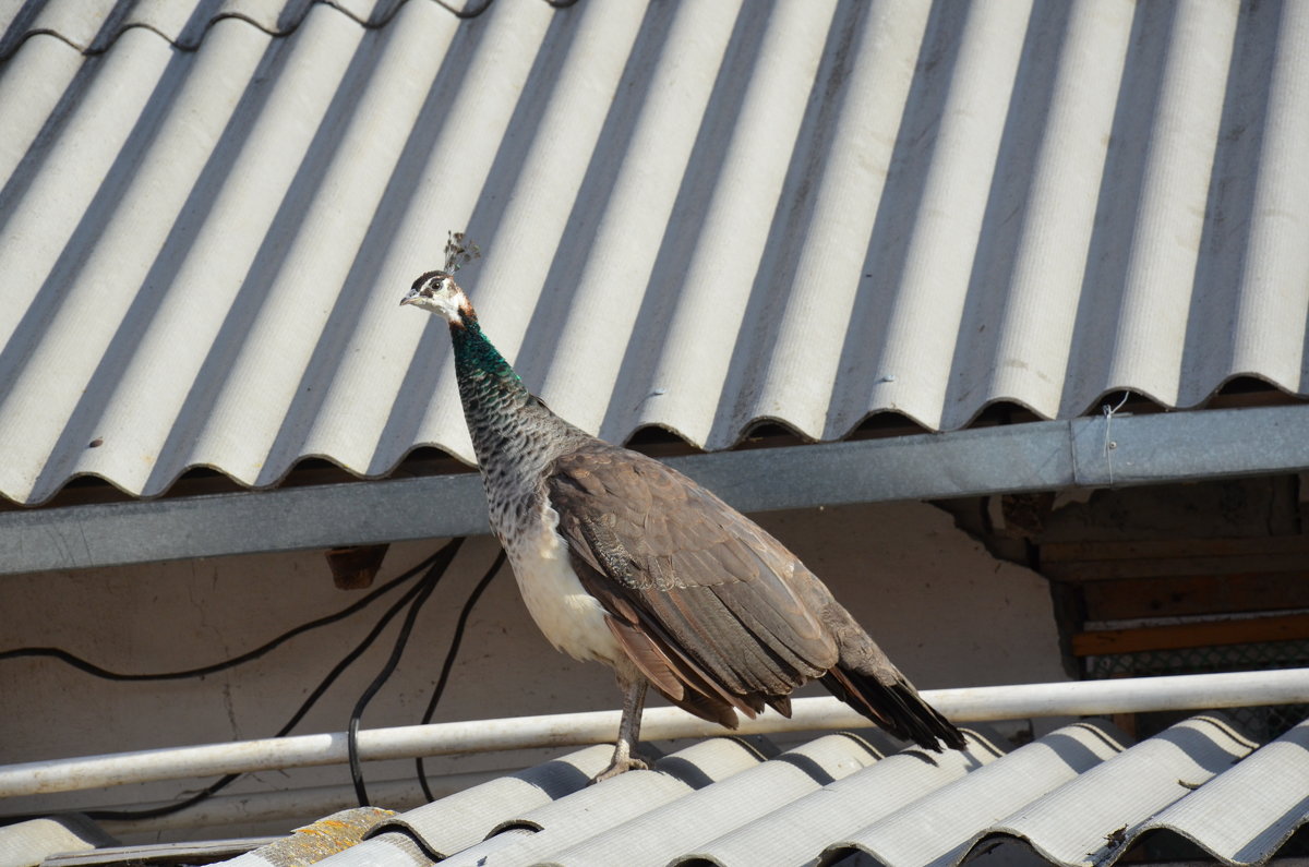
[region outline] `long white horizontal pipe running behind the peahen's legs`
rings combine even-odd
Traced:
[[[923,698],[957,723],[1295,705],[1309,702],[1309,668],[937,689],[924,690]],[[602,744],[614,740],[618,718],[618,711],[593,711],[374,728],[359,732],[359,753],[364,761],[381,761],[529,747]],[[741,720],[737,733],[867,726],[867,719],[835,698],[801,698],[793,702],[791,719],[768,711],[758,719]],[[652,707],[645,711],[641,723],[645,740],[708,737],[723,732],[720,726],[696,719],[677,707]],[[0,767],[0,798],[338,765],[346,761],[344,732],[56,758]]]

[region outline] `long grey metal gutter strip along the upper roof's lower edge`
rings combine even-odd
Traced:
[[[717,452],[670,466],[745,512],[1309,469],[1309,406],[1106,415]],[[0,575],[487,533],[436,475],[0,513]]]

